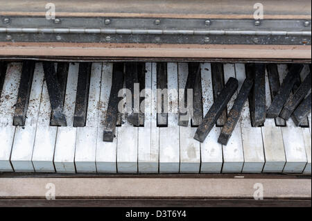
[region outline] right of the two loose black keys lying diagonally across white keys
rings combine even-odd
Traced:
[[[253,84],[254,82],[250,78],[246,78],[243,82],[243,85],[241,86],[241,90],[237,95],[234,105],[227,115],[227,121],[221,130],[220,136],[218,138],[218,143],[227,145],[229,138],[232,136],[232,132],[234,131],[236,123],[237,121],[239,121],[239,116],[241,116],[241,111],[245,104],[245,100],[247,100]]]

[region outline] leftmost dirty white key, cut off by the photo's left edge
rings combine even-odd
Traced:
[[[10,155],[15,134],[13,126],[14,105],[17,101],[21,63],[10,63],[6,71],[0,98],[0,171],[13,171]]]

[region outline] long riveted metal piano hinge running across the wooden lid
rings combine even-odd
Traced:
[[[311,45],[311,21],[0,17],[1,42]]]

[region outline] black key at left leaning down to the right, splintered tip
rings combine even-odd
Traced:
[[[52,109],[51,125],[66,127],[67,122],[63,114],[62,91],[58,82],[58,76],[55,73],[54,62],[43,62],[43,68]]]

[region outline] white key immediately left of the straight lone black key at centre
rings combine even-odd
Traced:
[[[144,127],[139,127],[139,173],[158,173],[159,130],[157,127],[156,64],[146,63]],[[142,94],[142,96],[144,96]]]

